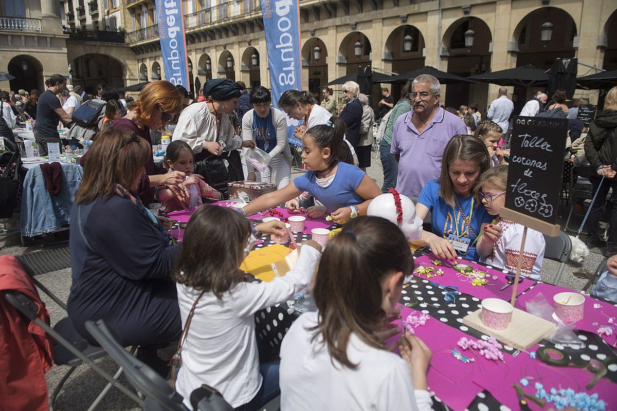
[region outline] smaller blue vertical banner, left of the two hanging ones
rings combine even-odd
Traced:
[[[160,51],[165,79],[189,89],[188,60],[181,0],[156,0],[159,20]]]

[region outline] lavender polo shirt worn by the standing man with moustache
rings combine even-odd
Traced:
[[[390,152],[399,155],[396,189],[408,197],[420,197],[424,184],[441,174],[441,158],[452,136],[467,134],[463,120],[439,107],[422,132],[412,123],[413,110],[394,124]]]

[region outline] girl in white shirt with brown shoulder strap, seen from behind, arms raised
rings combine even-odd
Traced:
[[[249,220],[219,206],[203,206],[189,220],[173,270],[184,324],[175,387],[186,407],[202,384],[217,389],[236,410],[257,410],[279,394],[278,360],[259,364],[254,314],[308,287],[321,246],[305,242],[296,267],[271,282],[247,281],[238,267],[256,234],[285,230],[273,221],[258,224],[251,234]]]

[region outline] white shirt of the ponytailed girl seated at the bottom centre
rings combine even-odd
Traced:
[[[358,367],[333,364],[323,339],[313,340],[318,312],[294,321],[281,343],[281,411],[431,410],[426,390],[413,389],[404,359],[352,334],[347,357]]]

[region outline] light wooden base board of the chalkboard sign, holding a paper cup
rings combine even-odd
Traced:
[[[552,322],[517,308],[512,312],[512,320],[505,330],[492,330],[486,327],[482,324],[481,315],[482,309],[478,309],[466,315],[463,324],[521,351],[536,345],[542,338],[551,335],[556,328]]]

